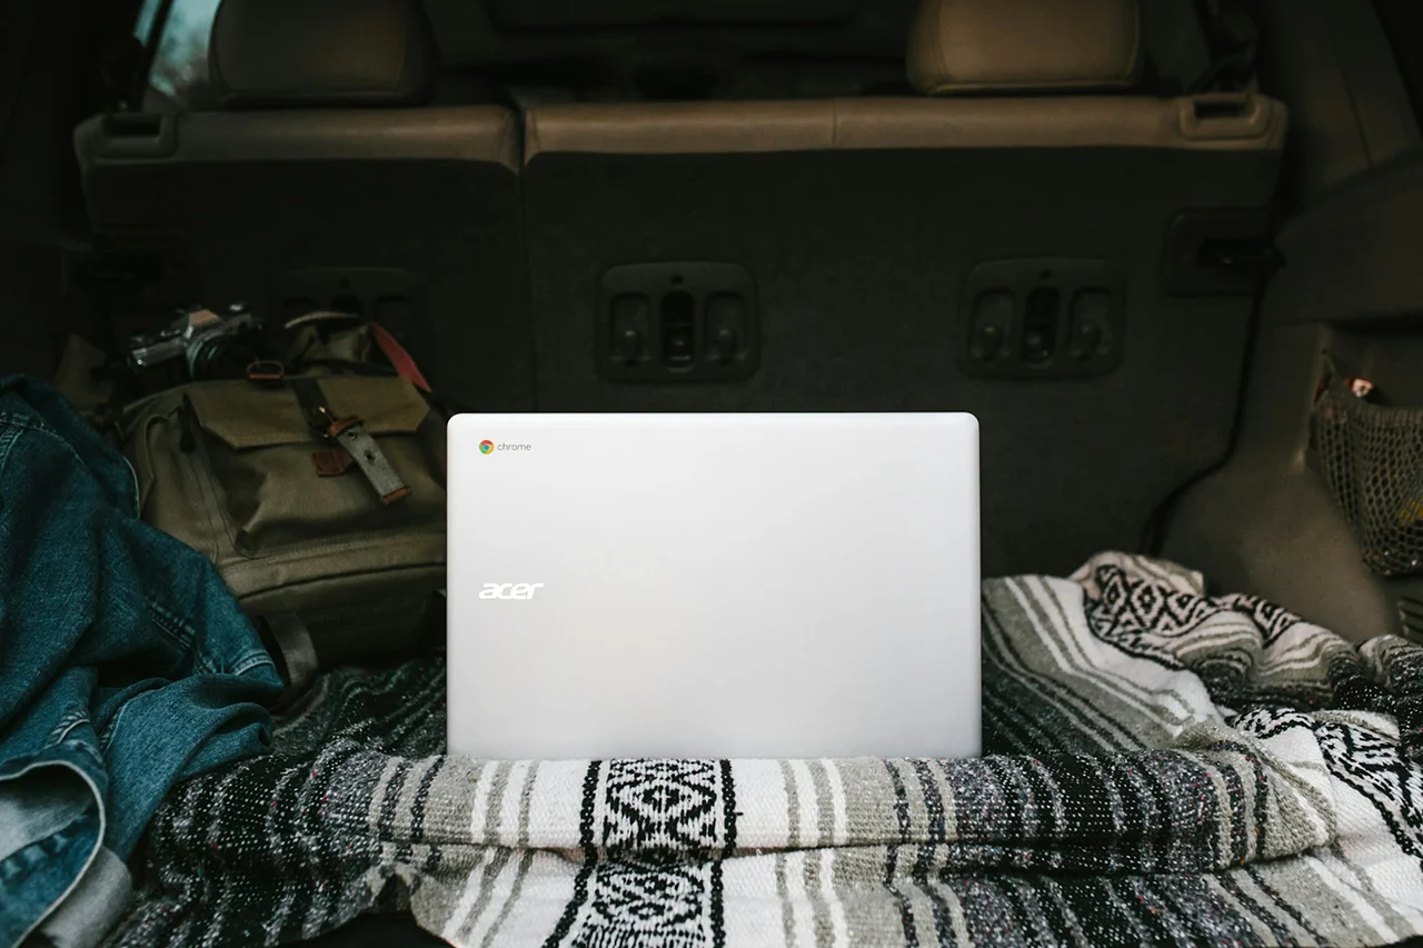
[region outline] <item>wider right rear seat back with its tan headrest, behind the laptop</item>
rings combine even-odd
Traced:
[[[1131,0],[929,0],[919,97],[532,110],[539,407],[969,410],[989,574],[1138,548],[1228,447],[1255,279],[1207,245],[1261,233],[1285,131],[1259,95],[1131,95],[1141,60]],[[677,266],[609,276],[638,263]],[[743,285],[707,263],[754,313],[707,315]],[[693,364],[744,342],[754,374],[609,380],[689,319]]]

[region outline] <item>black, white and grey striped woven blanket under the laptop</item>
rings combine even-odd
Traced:
[[[332,673],[269,757],[174,793],[110,942],[380,908],[478,948],[1423,934],[1423,648],[1109,554],[985,582],[983,656],[980,760],[460,760],[438,659]]]

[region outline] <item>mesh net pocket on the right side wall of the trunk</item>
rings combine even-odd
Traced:
[[[1423,572],[1423,409],[1372,404],[1335,374],[1315,404],[1313,437],[1369,568]]]

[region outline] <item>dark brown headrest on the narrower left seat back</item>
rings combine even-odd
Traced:
[[[437,70],[417,0],[223,0],[212,24],[225,108],[423,105]]]

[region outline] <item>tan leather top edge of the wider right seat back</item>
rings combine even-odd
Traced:
[[[1201,107],[1227,105],[1235,114],[1198,115]],[[545,152],[712,155],[1074,145],[1279,149],[1285,121],[1285,107],[1262,95],[573,104],[529,112],[524,159]]]

